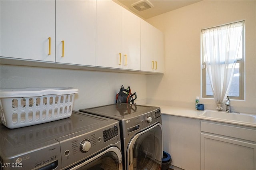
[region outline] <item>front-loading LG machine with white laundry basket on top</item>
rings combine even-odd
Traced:
[[[1,170],[122,170],[114,119],[73,111],[66,119],[0,130]]]

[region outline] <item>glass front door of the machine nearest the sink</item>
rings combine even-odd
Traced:
[[[160,123],[136,134],[127,150],[128,170],[159,170],[162,164],[163,136]]]

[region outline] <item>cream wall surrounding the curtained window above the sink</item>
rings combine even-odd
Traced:
[[[245,20],[245,100],[232,100],[231,105],[233,110],[255,114],[256,1],[204,0],[148,19],[165,38],[165,74],[147,77],[148,102],[194,107],[200,96],[206,109],[215,109],[213,99],[201,98],[200,33],[240,20]]]

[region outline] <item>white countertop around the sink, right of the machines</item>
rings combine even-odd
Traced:
[[[154,104],[147,104],[148,106],[157,106],[161,108],[161,113],[163,115],[172,115],[172,116],[179,116],[179,117],[188,117],[192,119],[201,119],[201,120],[208,120],[208,121],[215,121],[215,122],[222,122],[222,123],[230,123],[234,125],[242,125],[247,127],[256,127],[256,124],[253,123],[244,123],[239,121],[231,121],[231,120],[224,120],[224,119],[214,119],[210,117],[199,117],[204,111],[198,111],[196,109],[186,108],[186,107],[173,107],[173,106],[166,106],[166,105],[154,105]]]

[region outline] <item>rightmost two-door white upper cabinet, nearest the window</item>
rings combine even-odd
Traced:
[[[144,20],[140,23],[141,71],[164,72],[164,35]]]

